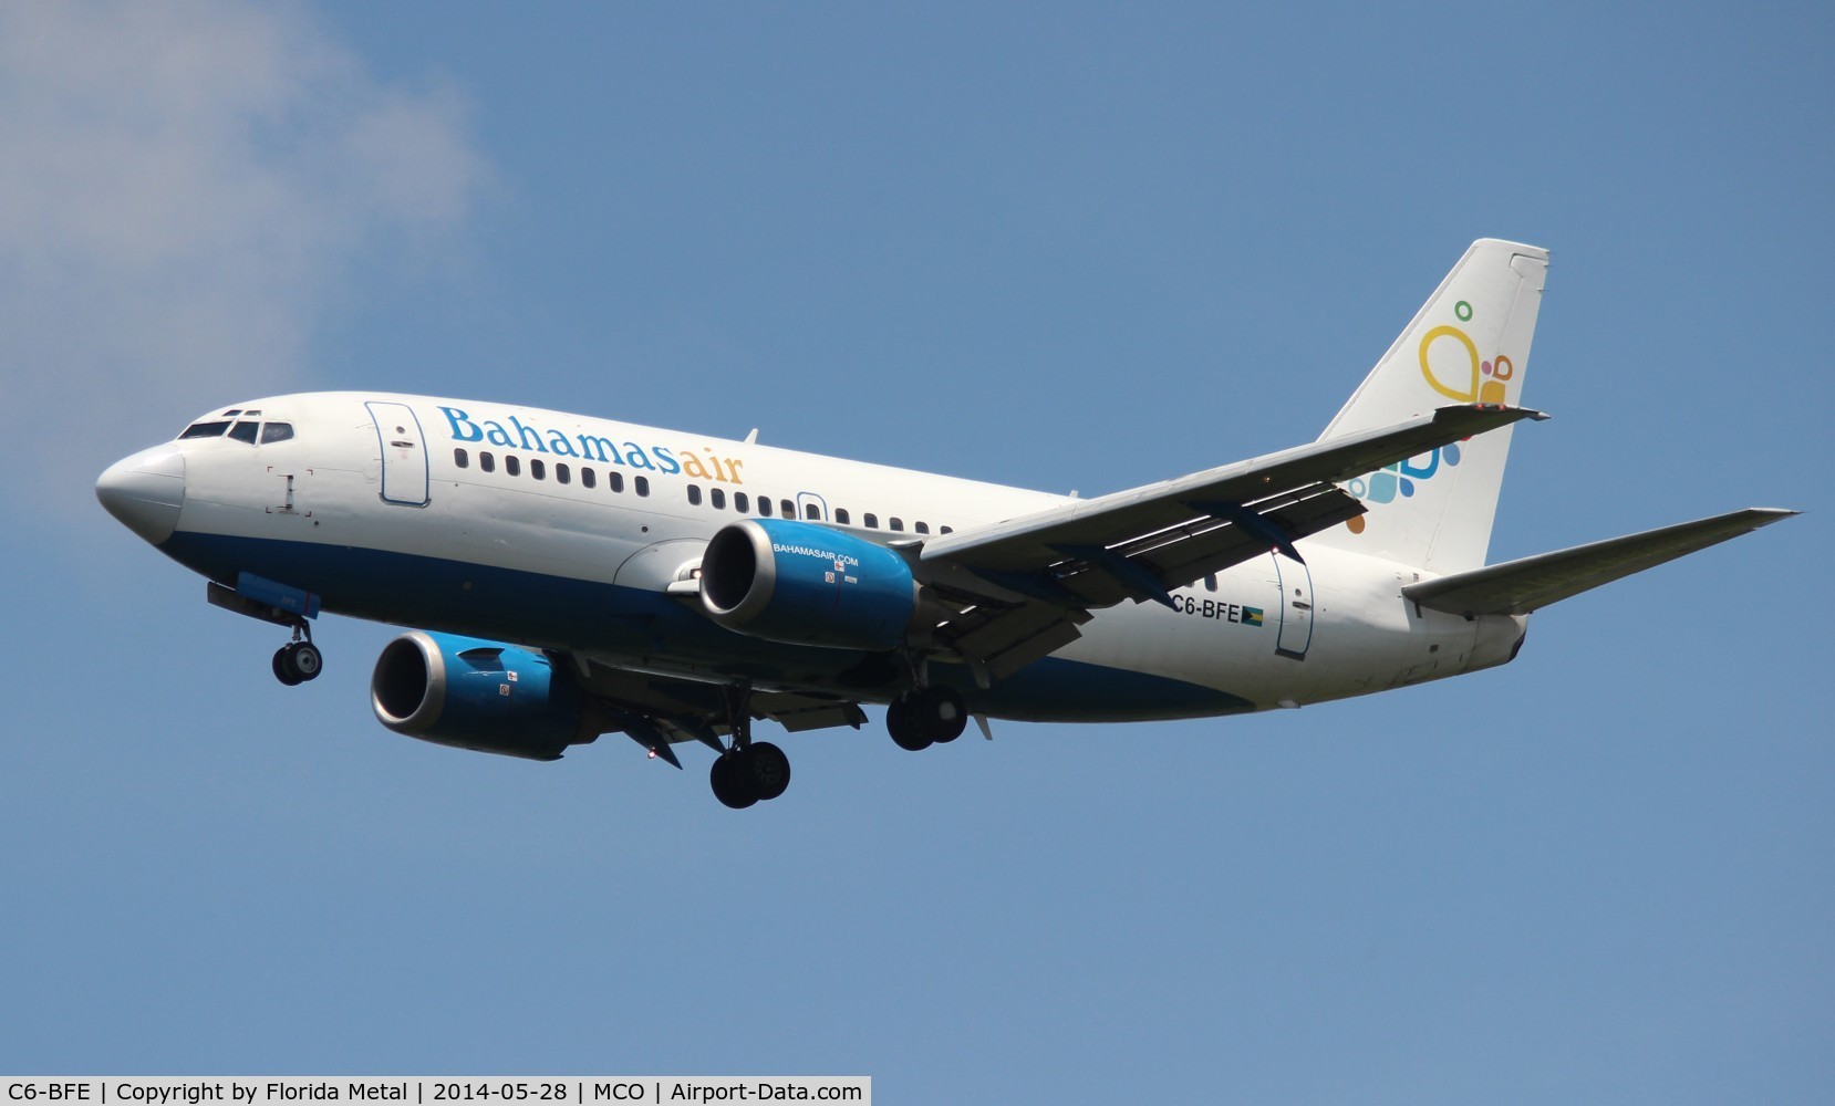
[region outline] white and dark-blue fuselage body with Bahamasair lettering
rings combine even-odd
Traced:
[[[1066,503],[466,400],[317,393],[240,411],[284,422],[292,437],[187,438],[121,462],[182,473],[172,532],[156,545],[218,583],[253,574],[361,618],[864,701],[897,688],[862,680],[857,653],[749,638],[664,591],[692,580],[708,537],[741,517],[789,512],[892,543]],[[1523,636],[1523,618],[1468,620],[1409,603],[1400,589],[1422,578],[1411,567],[1307,541],[1299,550],[1305,563],[1270,552],[1178,589],[1176,609],[1123,602],[1095,611],[1079,640],[1031,666],[1053,679],[1028,669],[985,690],[967,673],[945,679],[996,717],[1185,717],[1488,668]]]

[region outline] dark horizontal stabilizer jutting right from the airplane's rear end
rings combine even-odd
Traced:
[[[1435,611],[1450,611],[1468,618],[1477,614],[1529,614],[1611,583],[1633,572],[1653,569],[1664,561],[1719,545],[1760,526],[1787,519],[1798,512],[1778,508],[1747,508],[1712,519],[1679,523],[1661,530],[1646,530],[1609,541],[1576,545],[1558,552],[1488,565],[1470,572],[1455,572],[1439,580],[1409,583],[1402,594]]]

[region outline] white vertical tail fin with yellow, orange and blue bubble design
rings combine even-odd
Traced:
[[[1395,426],[1448,404],[1521,405],[1547,271],[1547,249],[1474,242],[1319,440]],[[1310,541],[1435,572],[1481,567],[1510,429],[1351,481],[1345,490],[1369,512]]]

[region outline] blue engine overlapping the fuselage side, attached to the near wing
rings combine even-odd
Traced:
[[[895,649],[918,607],[905,558],[813,523],[747,519],[701,556],[701,605],[727,629],[835,649]]]

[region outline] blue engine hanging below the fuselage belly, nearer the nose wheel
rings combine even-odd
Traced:
[[[417,629],[389,642],[369,702],[396,734],[536,761],[598,735],[580,688],[547,657],[444,633]]]

